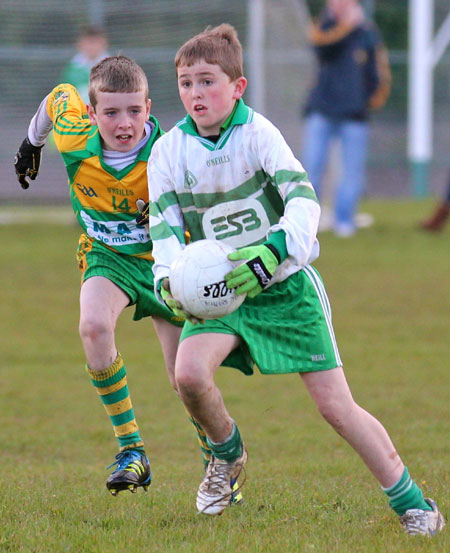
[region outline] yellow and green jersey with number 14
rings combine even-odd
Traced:
[[[148,201],[147,160],[162,135],[150,116],[151,135],[136,159],[121,170],[104,163],[97,126],[70,84],[56,86],[46,99],[55,144],[69,177],[70,198],[78,222],[91,238],[114,251],[152,259],[147,230],[136,224],[136,200]]]

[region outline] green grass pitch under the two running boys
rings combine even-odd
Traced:
[[[450,229],[417,230],[432,205],[366,203],[375,225],[349,240],[321,234],[316,266],[355,399],[385,424],[413,478],[449,518]],[[0,233],[0,552],[450,550],[448,529],[433,539],[403,534],[378,484],[295,375],[218,372],[249,449],[245,505],[197,516],[202,468],[193,429],[151,321],[132,322],[131,310],[117,342],[153,484],[147,494],[111,497],[105,467],[116,442],[77,330],[78,228],[45,224],[41,214]]]

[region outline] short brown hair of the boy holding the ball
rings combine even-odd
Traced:
[[[217,27],[208,26],[195,35],[178,50],[175,56],[175,68],[193,65],[199,60],[219,65],[232,81],[244,75],[242,45],[236,29],[228,23]]]

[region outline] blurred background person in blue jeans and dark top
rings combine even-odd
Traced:
[[[387,50],[358,0],[328,0],[309,39],[318,76],[305,106],[303,165],[321,199],[332,141],[341,145],[341,175],[334,197],[333,228],[355,233],[355,213],[364,192],[369,145],[368,115],[390,91]]]

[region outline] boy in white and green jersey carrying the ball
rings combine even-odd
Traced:
[[[155,288],[184,325],[175,364],[178,392],[207,435],[212,458],[197,509],[217,515],[247,452],[214,374],[220,365],[247,374],[300,374],[319,412],[360,455],[389,496],[406,531],[444,525],[412,481],[386,430],[353,400],[337,348],[327,294],[311,263],[320,207],[301,163],[280,132],[242,101],[242,48],[230,25],[193,37],[175,58],[188,113],[149,159]],[[243,263],[227,286],[246,293],[234,313],[192,324],[170,295],[169,267],[193,241],[223,240]],[[195,321],[193,321],[195,322]]]

